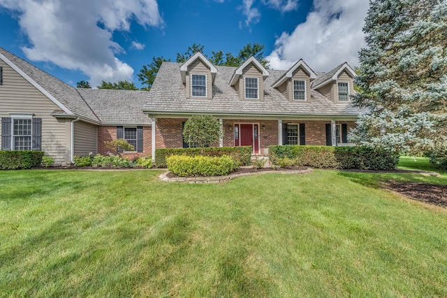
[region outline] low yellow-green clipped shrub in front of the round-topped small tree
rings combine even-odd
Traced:
[[[223,176],[235,168],[234,159],[228,155],[221,157],[171,155],[166,159],[168,169],[181,177]]]

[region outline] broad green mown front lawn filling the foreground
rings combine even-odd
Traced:
[[[159,173],[0,172],[0,296],[447,296],[446,209],[379,187],[444,176]]]

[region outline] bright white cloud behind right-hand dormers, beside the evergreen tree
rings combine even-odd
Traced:
[[[267,57],[270,66],[288,69],[300,58],[314,71],[330,71],[343,62],[357,66],[368,7],[369,0],[314,0],[306,21],[277,38]]]

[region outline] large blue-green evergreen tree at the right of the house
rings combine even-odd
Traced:
[[[447,150],[447,1],[374,0],[350,139],[395,152]]]

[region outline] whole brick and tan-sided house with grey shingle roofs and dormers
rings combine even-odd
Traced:
[[[69,164],[126,139],[135,152],[124,157],[154,157],[156,148],[187,147],[191,115],[214,115],[224,133],[217,145],[250,145],[254,155],[278,144],[346,146],[361,113],[349,101],[354,76],[346,63],[318,73],[300,59],[279,71],[251,57],[236,68],[198,52],[163,62],[149,92],[82,89],[0,48],[1,150],[43,150]]]

